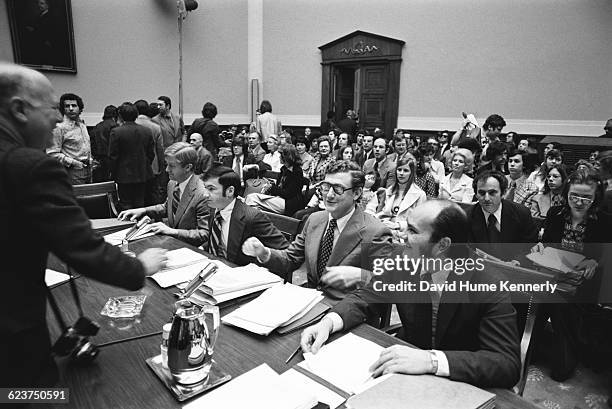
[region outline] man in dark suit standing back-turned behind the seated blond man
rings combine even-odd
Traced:
[[[108,158],[119,204],[125,210],[144,206],[145,187],[153,179],[155,143],[152,132],[134,122],[138,110],[133,104],[123,103],[118,111],[122,125],[111,131]]]

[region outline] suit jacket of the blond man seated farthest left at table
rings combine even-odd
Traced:
[[[208,192],[197,175],[192,175],[181,195],[176,214],[172,214],[172,195],[176,182],[168,182],[168,197],[162,204],[146,207],[147,216],[168,218],[168,226],[177,229],[176,238],[194,246],[208,246]]]

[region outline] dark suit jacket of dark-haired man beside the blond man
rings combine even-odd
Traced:
[[[242,243],[249,237],[257,237],[264,246],[269,248],[286,249],[289,247],[289,242],[285,239],[285,236],[274,227],[265,214],[259,209],[247,206],[239,199],[236,199],[234,204],[229,231],[227,260],[239,266],[257,263],[255,258],[242,252]]]

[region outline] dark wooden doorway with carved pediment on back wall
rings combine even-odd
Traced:
[[[348,109],[359,114],[362,128],[397,126],[400,64],[404,41],[355,31],[319,47],[323,83],[321,118],[328,111],[342,119]]]

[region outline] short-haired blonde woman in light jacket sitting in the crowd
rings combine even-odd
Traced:
[[[451,162],[451,172],[440,180],[440,199],[471,203],[474,199],[472,178],[465,174],[474,164],[474,155],[468,149],[457,149]]]

